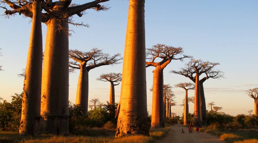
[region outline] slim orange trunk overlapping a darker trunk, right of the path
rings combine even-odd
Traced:
[[[197,72],[198,73],[198,72]],[[195,80],[195,92],[194,92],[194,124],[200,124],[202,121],[201,112],[200,112],[200,84],[199,84],[199,75],[196,73]]]

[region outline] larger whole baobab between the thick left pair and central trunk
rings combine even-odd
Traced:
[[[103,65],[118,64],[122,57],[120,53],[110,56],[107,53],[103,53],[100,49],[93,48],[88,52],[79,51],[77,49],[69,50],[69,58],[72,59],[69,61],[69,67],[71,67],[70,71],[80,69],[76,104],[81,105],[83,112],[86,113],[88,110],[89,97],[89,71]]]

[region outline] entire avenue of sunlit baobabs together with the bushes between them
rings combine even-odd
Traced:
[[[257,91],[247,91],[255,100],[254,115],[236,117],[219,112],[222,107],[209,103],[211,111],[206,111],[203,83],[208,79],[219,79],[224,73],[215,69],[220,63],[193,59],[184,55],[182,47],[156,44],[145,47],[145,0],[129,0],[124,57],[120,53],[110,55],[101,49],[90,51],[69,50],[68,24],[74,23],[73,15],[81,17],[87,9],[105,11],[108,7],[100,5],[109,0],[95,0],[78,5],[72,0],[0,0],[1,5],[9,5],[12,10],[4,8],[7,16],[15,13],[32,18],[32,28],[26,70],[24,74],[23,93],[15,94],[9,103],[0,102],[0,129],[19,130],[22,135],[58,134],[69,135],[75,127],[103,127],[114,125],[116,137],[145,135],[149,136],[152,128],[165,128],[165,122],[177,124],[179,116],[171,110],[176,105],[172,86],[163,83],[163,70],[172,60],[190,59],[185,67],[170,73],[189,78],[191,82],[175,85],[185,90],[183,100],[184,112],[182,123],[199,123],[201,126],[219,124],[234,126],[235,123],[258,126]],[[44,62],[42,69],[42,29],[47,25]],[[98,98],[89,100],[89,71],[103,65],[122,63],[121,73],[101,74],[97,80],[110,82],[109,102],[104,104]],[[146,67],[153,66],[152,114],[150,123],[147,112]],[[79,69],[76,103],[69,103],[69,72]],[[2,70],[2,67],[0,67]],[[201,75],[205,75],[200,78]],[[118,104],[115,102],[114,86],[121,82],[121,94]],[[188,90],[195,90],[194,97],[188,97]],[[90,104],[88,104],[90,102]],[[193,114],[189,113],[188,103],[194,104]],[[91,110],[88,111],[88,108]],[[214,110],[214,112],[212,112]],[[241,119],[241,120],[240,120]],[[173,121],[172,121],[173,120]],[[242,123],[244,120],[244,123]]]

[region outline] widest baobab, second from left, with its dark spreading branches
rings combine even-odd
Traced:
[[[18,2],[0,0],[0,4],[7,4],[13,9],[8,10],[6,7],[2,7],[6,9],[5,14],[7,16],[19,13],[33,19],[36,14],[39,16],[36,18],[37,21],[40,21],[39,18],[41,18],[41,22],[45,23],[47,26],[45,44],[46,56],[43,64],[43,71],[40,71],[42,72],[40,114],[43,122],[45,122],[44,129],[42,129],[44,133],[69,134],[69,60],[67,57],[69,51],[68,35],[70,34],[68,24],[87,27],[87,24],[74,23],[72,20],[73,15],[81,17],[85,14],[85,10],[92,8],[95,8],[97,11],[107,10],[107,7],[99,4],[106,1],[109,0],[95,0],[82,5],[77,5],[71,4],[72,0],[59,0],[54,2],[52,2],[52,0],[19,0]],[[39,7],[37,12],[32,8],[36,2],[38,2],[37,7]],[[44,9],[44,12],[42,12],[42,9]],[[40,33],[41,26],[37,24],[35,29],[36,30],[32,31],[33,33]],[[37,38],[39,40],[41,39],[40,37]],[[38,43],[40,44],[40,42]],[[33,56],[40,57],[37,55]],[[29,73],[30,70],[27,68],[27,65],[26,72]],[[37,83],[40,83],[38,81]],[[58,122],[60,124],[53,125],[54,122]]]

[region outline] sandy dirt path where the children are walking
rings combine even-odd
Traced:
[[[180,134],[181,129],[184,130],[185,133]],[[173,142],[173,143],[226,143],[222,140],[220,140],[218,137],[213,136],[208,133],[203,133],[200,132],[199,134],[197,131],[195,131],[195,128],[193,129],[193,133],[189,134],[188,128],[183,127],[179,124],[176,124],[174,126],[170,126],[170,130],[165,136],[165,138],[162,138],[160,140],[156,140],[155,142],[160,142],[160,143],[168,143],[168,142]]]

